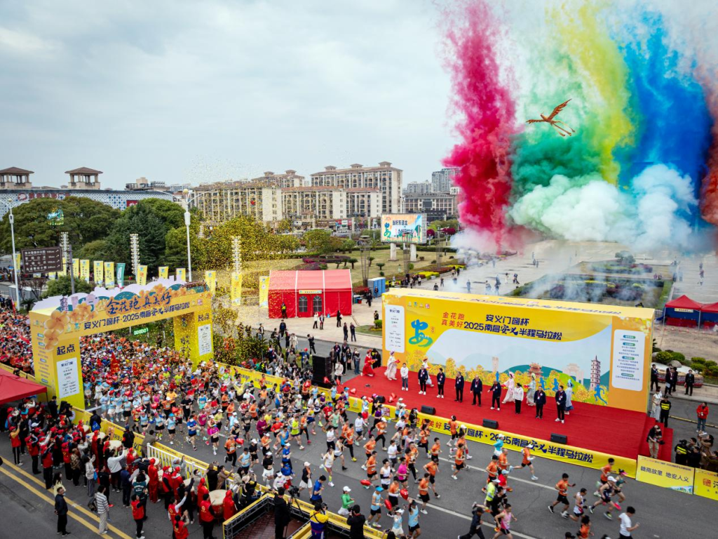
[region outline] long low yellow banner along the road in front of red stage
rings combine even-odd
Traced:
[[[279,387],[284,379],[276,376],[269,376],[261,372],[251,371],[244,369],[243,367],[229,367],[225,366],[225,369],[233,369],[237,372],[238,378],[241,382],[251,382],[257,387],[261,384],[269,386]],[[325,395],[329,395],[329,391],[322,390]],[[396,418],[396,407],[388,404],[384,404],[388,407],[391,418]],[[361,411],[361,399],[356,397],[349,397],[349,410],[352,412],[359,413]],[[424,418],[429,420],[429,426],[434,432],[450,435],[449,420],[446,418],[440,418],[436,415],[426,415],[419,413],[419,423]],[[636,474],[636,461],[634,459],[628,459],[625,456],[609,455],[607,453],[601,453],[600,451],[591,451],[589,449],[578,448],[574,446],[564,446],[561,443],[553,443],[546,440],[539,440],[537,438],[530,438],[528,436],[521,436],[520,434],[510,433],[505,430],[494,430],[491,428],[485,428],[479,425],[472,425],[470,423],[461,423],[466,425],[467,428],[467,440],[476,443],[485,443],[487,445],[493,445],[498,439],[499,434],[504,435],[504,447],[512,451],[521,451],[529,443],[533,443],[533,449],[531,453],[535,456],[544,457],[544,459],[551,459],[554,461],[567,462],[569,464],[575,464],[577,466],[584,466],[584,468],[601,469],[605,466],[608,459],[615,459],[615,466],[625,470],[629,477],[635,477]],[[692,476],[691,476],[692,485]]]

